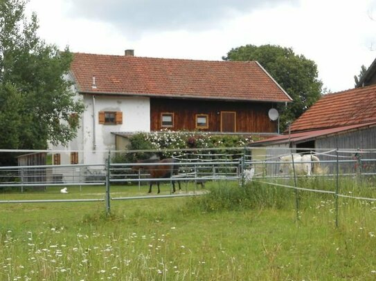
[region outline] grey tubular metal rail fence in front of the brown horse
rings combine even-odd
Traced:
[[[147,164],[169,165],[177,163]],[[111,197],[111,184],[143,182],[195,182],[200,184],[206,181],[233,180],[238,181],[242,177],[243,158],[233,161],[206,161],[206,162],[179,162],[179,174],[168,178],[153,178],[147,173],[132,173],[132,167],[140,166],[138,163],[114,164],[107,159],[105,165],[43,165],[43,166],[12,166],[0,167],[0,188],[18,187],[21,193],[31,188],[48,186],[105,186],[104,198],[89,199],[51,199],[51,200],[0,200],[1,203],[44,203],[44,202],[105,202],[106,211],[110,211],[111,200],[136,200],[166,197],[196,196],[199,193],[172,194],[168,195],[143,195],[130,197]],[[28,173],[24,173],[25,170]],[[45,175],[41,181],[40,174]]]

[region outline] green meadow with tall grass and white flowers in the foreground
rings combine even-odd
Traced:
[[[336,227],[332,194],[257,181],[206,186],[197,197],[113,201],[109,215],[103,202],[1,204],[0,280],[375,280],[372,200],[339,197]],[[298,186],[336,188],[320,177]],[[147,192],[111,189],[113,197]],[[162,194],[169,190],[163,184]],[[341,179],[340,193],[376,197],[367,180]],[[104,195],[100,186],[0,193],[1,200]]]

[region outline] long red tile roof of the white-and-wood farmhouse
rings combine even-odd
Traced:
[[[80,93],[285,102],[292,99],[256,61],[195,61],[75,53]],[[96,88],[92,88],[93,76]]]

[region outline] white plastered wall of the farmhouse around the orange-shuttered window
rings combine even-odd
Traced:
[[[84,101],[85,110],[80,119],[78,136],[68,146],[53,146],[60,153],[61,164],[70,164],[71,151],[79,151],[79,164],[104,164],[108,151],[115,147],[112,132],[150,131],[150,99],[109,95],[78,95]],[[121,111],[123,124],[99,124],[100,111]]]

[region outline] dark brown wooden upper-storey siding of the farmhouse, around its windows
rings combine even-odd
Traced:
[[[161,130],[161,113],[174,113],[171,130],[196,130],[195,115],[208,115],[210,132],[221,131],[221,111],[236,113],[236,132],[276,133],[277,122],[268,117],[271,104],[237,101],[202,101],[188,99],[151,99],[150,130]]]

